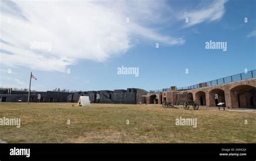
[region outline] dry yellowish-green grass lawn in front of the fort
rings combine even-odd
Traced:
[[[8,143],[256,143],[255,112],[59,104],[0,103],[0,118],[21,118],[21,128],[0,126],[0,139]],[[179,117],[197,118],[197,127],[177,126]]]

